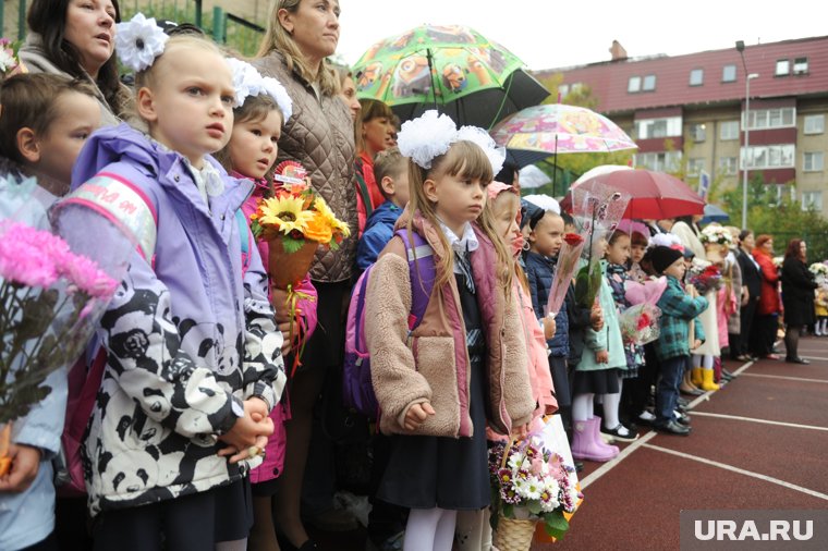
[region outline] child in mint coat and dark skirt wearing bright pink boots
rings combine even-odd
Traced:
[[[607,242],[604,241],[606,254]],[[572,420],[574,436],[572,455],[574,457],[605,462],[618,455],[614,445],[607,445],[600,438],[599,417],[593,413],[593,400],[596,394],[604,402],[604,416],[608,417],[610,429],[614,429],[622,438],[630,439],[629,430],[622,430],[618,425],[618,403],[621,399],[619,371],[626,370],[621,328],[618,323],[618,310],[612,299],[612,290],[607,282],[607,262],[601,260],[601,284],[598,302],[604,313],[604,327],[599,331],[587,329],[584,335],[584,351],[581,362],[575,366],[575,377],[572,384]],[[625,427],[623,428],[625,429]]]

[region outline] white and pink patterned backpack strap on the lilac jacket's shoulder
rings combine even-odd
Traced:
[[[147,262],[155,264],[158,213],[144,191],[129,180],[100,172],[60,204],[83,205],[104,216],[137,245]]]

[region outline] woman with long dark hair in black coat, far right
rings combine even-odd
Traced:
[[[784,304],[786,362],[809,364],[799,355],[800,333],[814,323],[814,274],[805,261],[807,246],[802,240],[791,240],[782,262],[782,303]]]

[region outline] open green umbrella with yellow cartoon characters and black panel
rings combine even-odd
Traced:
[[[491,127],[549,91],[497,42],[459,25],[423,25],[372,46],[354,65],[360,98],[403,121],[437,108],[458,124]]]

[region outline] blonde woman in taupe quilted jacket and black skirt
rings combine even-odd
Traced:
[[[285,543],[313,549],[300,519],[300,497],[312,433],[313,408],[329,368],[342,360],[344,311],[356,250],[353,121],[339,97],[336,72],[325,63],[339,41],[339,2],[279,0],[253,64],[275,76],[293,100],[293,115],[279,139],[277,162],[296,160],[310,185],[351,226],[338,250],[322,250],[310,267],[318,292],[319,321],[290,387],[291,420],[285,423],[287,455],[276,509]],[[276,305],[284,310],[284,305]],[[321,454],[315,454],[321,455]],[[330,460],[330,454],[327,455]],[[332,466],[330,466],[332,469]],[[316,470],[316,469],[315,469]],[[315,473],[315,477],[328,475]]]

